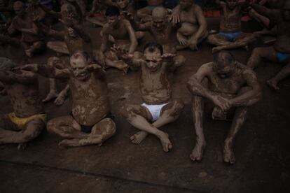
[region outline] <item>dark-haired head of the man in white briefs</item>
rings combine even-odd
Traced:
[[[163,47],[158,43],[147,43],[144,46],[144,56],[146,66],[150,71],[155,72],[160,69],[162,64]]]

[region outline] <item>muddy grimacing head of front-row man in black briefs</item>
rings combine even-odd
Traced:
[[[74,78],[80,81],[85,81],[90,78],[90,72],[85,69],[90,63],[90,57],[86,52],[77,51],[70,58],[70,71]]]

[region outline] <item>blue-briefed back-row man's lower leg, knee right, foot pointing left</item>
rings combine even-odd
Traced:
[[[245,34],[243,33],[240,37],[238,37],[234,42],[230,42],[227,45],[219,45],[215,48],[212,48],[212,52],[219,52],[221,50],[232,50],[235,48],[246,48],[249,43],[256,41],[255,34]]]

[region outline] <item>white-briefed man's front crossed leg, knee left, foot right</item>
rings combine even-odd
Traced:
[[[172,148],[172,143],[169,140],[168,134],[160,131],[153,126],[153,124],[149,123],[149,120],[152,120],[152,116],[146,108],[143,106],[124,106],[120,110],[120,113],[130,122],[130,124],[132,124],[132,126],[157,136],[165,152],[168,152]]]

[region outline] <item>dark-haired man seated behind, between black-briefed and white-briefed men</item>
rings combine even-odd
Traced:
[[[95,54],[97,62],[106,67],[114,67],[116,69],[127,72],[129,66],[120,60],[112,51],[106,51],[109,44],[109,36],[112,36],[118,47],[128,50],[133,54],[137,48],[138,42],[135,31],[128,20],[120,16],[120,11],[116,7],[106,9],[106,17],[108,22],[102,29],[102,45]]]

